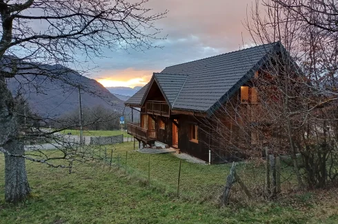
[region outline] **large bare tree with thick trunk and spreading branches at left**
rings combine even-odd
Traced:
[[[64,67],[79,67],[83,60],[115,49],[143,51],[159,47],[155,41],[160,30],[154,22],[166,12],[151,14],[145,3],[146,0],[0,1],[0,148],[5,154],[6,201],[22,201],[30,193],[25,165],[28,157],[24,155],[15,100],[6,79],[29,77],[25,83],[28,85],[34,83],[34,77],[43,77],[79,87],[67,75],[72,71]],[[85,59],[81,60],[81,56]],[[54,66],[57,64],[63,68],[58,69]],[[37,91],[43,91],[41,82],[34,84]],[[90,91],[83,86],[81,89]],[[37,135],[41,133],[31,136]],[[46,159],[35,160],[47,163]]]

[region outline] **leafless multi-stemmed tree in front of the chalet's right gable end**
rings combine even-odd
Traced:
[[[296,3],[301,8],[295,8]],[[277,48],[266,52],[269,60],[245,85],[254,100],[242,102],[237,93],[212,119],[201,121],[212,129],[210,149],[223,161],[261,157],[268,148],[275,155],[290,155],[288,164],[300,189],[336,183],[336,5],[256,1],[245,23],[252,41]]]

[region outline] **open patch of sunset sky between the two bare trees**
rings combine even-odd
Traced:
[[[243,23],[252,0],[150,0],[154,12],[168,10],[165,19],[157,21],[163,29],[159,42],[163,49],[147,52],[109,52],[109,58],[94,61],[95,78],[105,87],[143,86],[152,72],[170,65],[215,56],[251,45]]]

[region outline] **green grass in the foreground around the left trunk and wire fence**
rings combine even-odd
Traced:
[[[110,168],[112,150],[116,166]],[[101,150],[100,155],[105,157],[105,152]],[[243,202],[220,208],[217,197],[229,165],[207,166],[183,161],[181,193],[177,197],[179,159],[173,155],[150,155],[150,185],[148,159],[149,155],[133,152],[132,143],[125,143],[107,148],[108,164],[74,164],[72,174],[66,169],[27,161],[32,196],[14,206],[4,203],[4,167],[3,155],[0,155],[0,223],[338,222],[335,190],[294,193],[292,197],[284,192],[278,202]],[[260,167],[239,164],[238,169],[250,185],[254,181],[250,181],[246,173],[255,169],[259,172]],[[288,170],[284,168],[284,172]],[[234,192],[235,196],[240,195]]]

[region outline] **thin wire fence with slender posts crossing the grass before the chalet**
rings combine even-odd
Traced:
[[[164,194],[189,201],[212,201],[219,203],[226,185],[231,164],[192,164],[173,155],[142,154],[132,149],[131,143],[96,147],[94,157],[101,158],[104,166],[139,180],[144,186],[161,190]],[[237,163],[237,174],[252,194],[253,200],[266,200],[265,161]],[[281,162],[281,192],[294,190],[297,186],[292,168]],[[231,191],[232,202],[250,203],[239,184]]]

